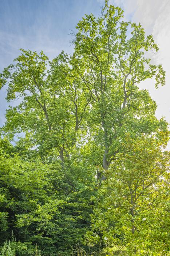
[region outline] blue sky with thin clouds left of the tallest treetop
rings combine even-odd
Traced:
[[[97,0],[0,0],[0,69],[20,47],[43,49],[50,57],[71,51],[70,30],[90,12],[100,13]]]

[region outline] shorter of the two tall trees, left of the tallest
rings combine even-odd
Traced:
[[[7,101],[20,98],[18,106],[7,110],[4,132],[10,139],[24,133],[20,146],[36,146],[41,157],[56,150],[63,165],[90,100],[81,83],[72,78],[67,54],[50,62],[43,52],[21,51],[1,79],[8,84]]]

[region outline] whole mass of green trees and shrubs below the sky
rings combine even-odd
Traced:
[[[165,84],[147,57],[158,46],[108,1],[72,38],[71,55],[21,49],[0,75],[13,102],[0,130],[1,255],[167,256],[168,124],[139,87]]]

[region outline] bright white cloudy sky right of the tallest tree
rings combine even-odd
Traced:
[[[152,34],[159,45],[157,54],[151,53],[151,59],[156,64],[162,64],[166,71],[166,84],[157,90],[154,80],[146,80],[140,84],[142,89],[148,89],[151,97],[157,102],[157,118],[162,116],[170,123],[170,1],[169,0],[111,0],[110,3],[124,9],[124,17],[135,23],[141,23],[146,34]],[[170,149],[170,143],[168,146]]]

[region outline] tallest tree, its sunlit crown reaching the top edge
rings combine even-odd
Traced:
[[[90,14],[78,23],[73,40],[71,64],[92,99],[88,129],[103,152],[105,170],[122,150],[127,129],[133,134],[150,133],[158,126],[155,102],[138,83],[153,77],[156,88],[165,83],[162,66],[146,58],[147,51],[158,51],[153,37],[146,36],[140,24],[124,22],[122,17],[123,11],[106,1],[99,18]]]

